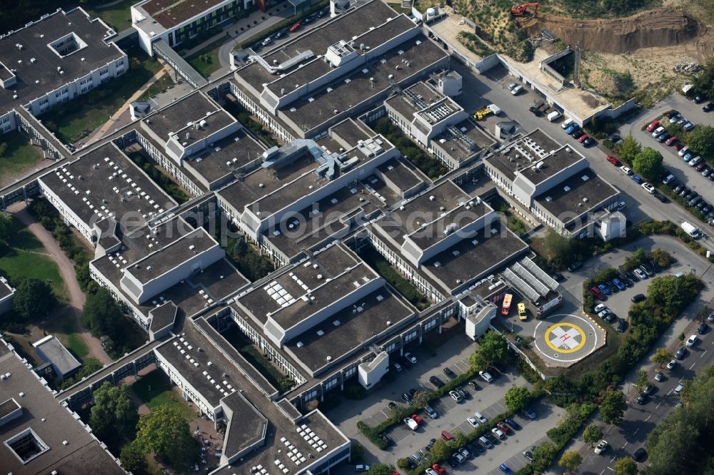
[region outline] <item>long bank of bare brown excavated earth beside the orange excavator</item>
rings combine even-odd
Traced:
[[[681,11],[657,9],[613,20],[575,20],[538,14],[518,19],[531,36],[549,29],[566,44],[603,53],[628,53],[638,48],[673,46],[695,39],[699,24]]]

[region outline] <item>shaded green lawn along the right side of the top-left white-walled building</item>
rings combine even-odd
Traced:
[[[111,115],[161,69],[161,64],[146,54],[129,57],[130,70],[99,86],[81,100],[62,104],[40,118],[46,128],[65,143],[75,143],[109,120]]]

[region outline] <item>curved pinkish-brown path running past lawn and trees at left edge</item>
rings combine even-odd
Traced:
[[[11,205],[8,208],[8,212],[12,213],[15,218],[27,226],[27,229],[29,229],[37,240],[44,245],[47,252],[49,252],[51,259],[54,260],[59,268],[59,275],[61,275],[62,280],[67,286],[67,290],[69,292],[69,305],[66,311],[60,312],[59,315],[56,315],[55,317],[75,320],[77,333],[82,337],[82,339],[84,339],[84,342],[89,348],[89,356],[99,359],[101,364],[111,363],[112,359],[108,354],[106,354],[106,352],[104,352],[104,348],[101,347],[99,339],[93,337],[89,330],[79,325],[79,317],[81,317],[82,308],[84,307],[84,302],[86,301],[86,295],[84,295],[84,292],[81,291],[79,284],[77,283],[74,263],[64,254],[57,244],[57,241],[54,240],[54,237],[52,237],[49,231],[35,221],[27,208],[25,208],[24,203],[15,203],[14,205]]]

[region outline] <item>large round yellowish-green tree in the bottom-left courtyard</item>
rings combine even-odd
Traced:
[[[190,466],[198,455],[198,442],[191,436],[181,409],[163,404],[149,414],[141,414],[136,426],[136,444],[154,452],[172,466]]]

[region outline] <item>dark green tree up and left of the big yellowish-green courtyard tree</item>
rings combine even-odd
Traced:
[[[89,425],[99,438],[116,435],[133,438],[139,412],[129,396],[129,386],[116,387],[107,381],[94,391],[93,396]]]

